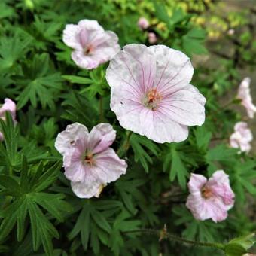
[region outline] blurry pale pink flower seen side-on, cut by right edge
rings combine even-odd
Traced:
[[[256,106],[252,103],[250,93],[251,78],[244,78],[239,85],[237,98],[241,99],[241,104],[245,107],[248,117],[253,118],[256,112]]]

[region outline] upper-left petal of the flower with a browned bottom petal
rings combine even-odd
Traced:
[[[77,139],[85,139],[89,135],[87,127],[81,123],[72,123],[66,127],[66,130],[59,133],[56,141],[55,148],[60,154],[66,154]]]

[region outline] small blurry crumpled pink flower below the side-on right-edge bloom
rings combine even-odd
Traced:
[[[251,130],[245,122],[236,123],[234,127],[235,132],[230,136],[230,146],[232,148],[240,148],[242,152],[251,150],[250,142],[253,139]]]

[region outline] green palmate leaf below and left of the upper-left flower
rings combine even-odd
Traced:
[[[38,102],[41,102],[43,108],[55,108],[54,101],[62,89],[62,78],[59,73],[52,73],[52,68],[47,53],[35,55],[32,62],[23,67],[26,77],[18,79],[18,83],[24,87],[17,97],[18,109],[29,101],[33,108],[37,107]]]

